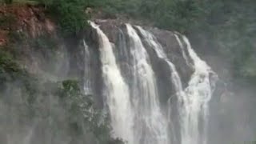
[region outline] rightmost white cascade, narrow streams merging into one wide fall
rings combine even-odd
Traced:
[[[182,36],[182,38],[186,43],[186,47],[182,44],[182,41],[178,38],[178,35],[175,35],[182,49],[182,56],[187,64],[190,64],[188,57],[194,61],[194,74],[190,79],[189,86],[186,87],[186,90],[183,90],[181,78],[179,77],[174,64],[167,58],[162,46],[156,41],[154,35],[150,34],[146,30],[143,30],[139,26],[138,30],[140,30],[142,36],[146,39],[146,42],[148,42],[156,51],[158,58],[164,59],[170,67],[171,82],[174,84],[174,89],[176,90],[178,101],[180,102],[179,113],[182,128],[181,143],[206,144],[208,102],[210,101],[213,93],[210,83],[210,74],[213,74],[213,72],[210,70],[210,66],[207,66],[206,62],[202,61],[198,57],[198,55],[191,48],[189,40],[185,36]],[[189,56],[186,56],[186,48]],[[170,108],[171,106],[169,106],[169,109]],[[171,120],[169,120],[169,122],[170,124],[172,123]],[[199,122],[202,122],[202,124]],[[199,130],[199,126],[202,127],[202,130]]]

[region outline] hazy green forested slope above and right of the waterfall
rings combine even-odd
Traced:
[[[94,3],[107,14],[127,14],[162,29],[187,34],[198,49],[213,51],[230,62],[235,78],[256,82],[256,1],[97,0]]]

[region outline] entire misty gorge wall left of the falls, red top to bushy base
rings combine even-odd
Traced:
[[[0,142],[95,143],[58,96],[59,82],[83,78],[82,40],[63,38],[40,7],[0,6],[0,19]]]

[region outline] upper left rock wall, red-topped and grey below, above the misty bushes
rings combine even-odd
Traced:
[[[56,80],[82,75],[82,41],[63,38],[42,7],[0,6],[0,17],[1,49],[9,49],[31,74]]]

